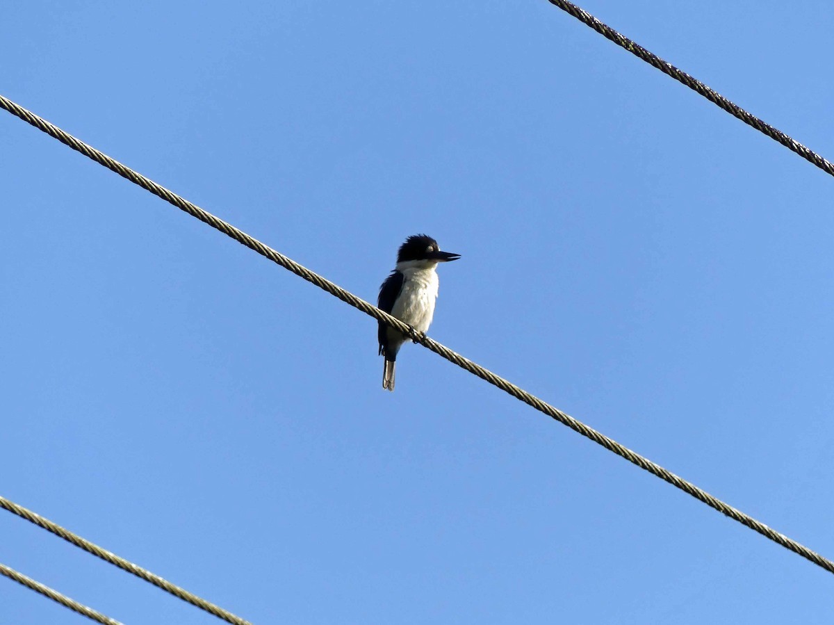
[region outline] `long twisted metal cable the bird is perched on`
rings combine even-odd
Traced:
[[[249,234],[235,228],[233,225],[227,224],[225,221],[215,217],[213,214],[207,213],[197,205],[188,202],[188,200],[183,199],[177,194],[174,194],[168,189],[156,184],[153,180],[145,178],[142,174],[134,172],[133,169],[125,167],[123,164],[111,159],[109,156],[99,152],[97,149],[84,144],[72,135],[56,128],[53,124],[48,123],[45,119],[38,117],[38,115],[31,113],[18,104],[11,102],[7,98],[3,98],[3,96],[0,96],[0,107],[5,108],[9,113],[13,113],[24,121],[32,124],[35,128],[43,130],[43,132],[53,136],[55,139],[58,139],[61,143],[78,150],[78,152],[84,154],[90,159],[93,159],[98,164],[102,164],[108,169],[113,170],[120,176],[123,176],[123,178],[130,180],[134,184],[138,184],[143,189],[148,189],[148,191],[158,195],[162,199],[165,199],[178,209],[182,209],[200,221],[203,221],[215,229],[219,229],[224,234],[229,235],[232,239],[246,245],[249,249],[254,249],[254,251],[269,260],[272,260],[274,263],[281,265],[284,269],[292,271],[295,275],[299,275],[304,278],[304,280],[308,280],[320,289],[338,297],[339,300],[354,306],[354,308],[361,310],[366,315],[374,317],[376,320],[382,321],[384,324],[394,328],[394,330],[399,330],[411,340],[414,340],[415,343],[420,343],[420,345],[434,351],[435,354],[442,356],[451,363],[460,366],[475,376],[480,377],[480,379],[489,382],[491,385],[497,386],[501,389],[501,391],[509,393],[516,399],[524,401],[525,404],[534,407],[537,411],[543,412],[545,415],[555,419],[555,421],[559,421],[563,425],[570,427],[571,430],[579,432],[586,438],[590,438],[591,441],[605,447],[608,451],[613,451],[617,454],[617,456],[621,456],[625,458],[625,460],[636,464],[636,466],[639,466],[641,469],[649,471],[652,475],[660,477],[661,480],[669,482],[672,486],[675,486],[676,488],[681,489],[681,491],[686,492],[686,494],[695,497],[698,501],[706,503],[707,506],[716,509],[718,512],[721,512],[721,514],[726,515],[726,517],[730,517],[734,521],[740,522],[746,527],[750,527],[755,532],[759,532],[762,536],[776,542],[776,544],[781,545],[786,549],[790,549],[792,552],[799,554],[801,557],[806,558],[810,562],[813,562],[818,567],[822,567],[826,571],[834,573],[834,562],[831,562],[831,560],[828,560],[826,557],[822,557],[820,554],[804,547],[801,543],[772,530],[764,523],[756,521],[753,517],[750,517],[744,512],[741,512],[725,502],[722,502],[720,499],[711,496],[708,492],[702,490],[698,486],[695,486],[691,482],[676,476],[671,471],[666,471],[666,469],[662,466],[657,465],[651,460],[637,454],[635,451],[631,451],[627,447],[620,445],[620,443],[608,438],[608,436],[600,434],[600,432],[586,426],[581,421],[577,421],[572,416],[565,414],[565,412],[557,410],[555,407],[550,406],[550,404],[545,403],[545,401],[541,401],[538,397],[524,391],[519,386],[515,386],[515,384],[512,384],[510,381],[506,381],[504,378],[496,376],[492,373],[492,371],[486,370],[484,367],[475,364],[472,360],[469,360],[460,354],[455,353],[448,347],[440,345],[440,343],[430,339],[424,333],[414,330],[414,328],[410,325],[404,324],[402,321],[389,315],[383,310],[379,310],[376,306],[370,305],[365,300],[362,300],[356,295],[342,289],[339,285],[335,285],[333,282],[330,282],[322,276],[315,274],[313,271],[308,270],[306,267],[299,265],[294,260],[290,260],[286,256],[279,254],[279,252],[274,249],[267,247],[256,239],[253,239],[249,236]]]

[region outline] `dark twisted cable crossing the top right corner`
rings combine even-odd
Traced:
[[[762,121],[760,118],[757,118],[756,115],[751,113],[747,113],[744,108],[741,108],[736,103],[732,103],[730,100],[722,96],[720,93],[716,93],[711,88],[707,87],[706,84],[701,83],[700,80],[696,78],[692,78],[688,73],[681,71],[680,69],[676,68],[671,63],[664,61],[662,58],[658,57],[656,54],[653,54],[643,48],[641,45],[631,41],[631,39],[617,33],[614,28],[600,22],[597,18],[593,15],[588,13],[582,8],[577,7],[573,3],[566,2],[566,0],[547,0],[550,4],[555,7],[562,9],[565,13],[573,16],[574,18],[578,19],[581,23],[584,23],[586,26],[593,28],[597,33],[600,33],[606,39],[610,39],[616,43],[620,48],[625,48],[630,53],[634,54],[637,58],[641,58],[642,60],[649,63],[652,67],[660,69],[661,72],[675,78],[679,83],[685,84],[687,87],[691,88],[696,93],[701,94],[704,98],[708,99],[711,103],[716,104],[723,108],[727,113],[730,113],[736,118],[741,119],[742,122],[746,123],[748,126],[752,126],[760,133],[766,134],[768,137],[773,139],[774,141],[778,141],[780,144],[784,145],[787,149],[791,150],[792,152],[796,152],[799,154],[803,159],[806,161],[815,164],[818,168],[822,169],[822,171],[826,172],[826,174],[830,174],[834,176],[834,164],[831,164],[830,161],[823,159],[819,154],[816,154],[813,150],[806,148],[804,145],[799,143],[798,141],[794,141],[788,135],[783,133],[781,130],[774,128],[769,123]]]

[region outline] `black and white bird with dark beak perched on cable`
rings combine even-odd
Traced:
[[[435,269],[439,263],[458,260],[460,254],[441,252],[435,239],[427,234],[414,234],[405,239],[397,251],[397,264],[379,287],[379,310],[417,330],[429,330],[435,315],[438,280]],[[399,348],[407,337],[379,321],[379,355],[385,357],[382,387],[394,391],[394,366]]]

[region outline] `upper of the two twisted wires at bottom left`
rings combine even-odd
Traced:
[[[155,573],[133,564],[133,562],[128,562],[128,560],[125,560],[123,557],[118,557],[113,552],[108,552],[107,549],[98,547],[98,545],[93,542],[89,542],[86,538],[82,538],[78,536],[78,534],[70,532],[68,529],[59,526],[58,523],[41,517],[36,512],[32,512],[23,506],[19,506],[15,502],[9,501],[6,497],[0,496],[0,507],[8,510],[8,512],[18,515],[18,517],[26,519],[28,522],[34,523],[38,527],[43,527],[43,529],[48,532],[52,532],[55,536],[62,537],[65,541],[71,542],[73,545],[80,547],[85,552],[92,553],[93,556],[98,556],[105,562],[110,562],[110,564],[119,567],[123,571],[133,573],[136,577],[143,579],[145,582],[150,582],[156,587],[162,588],[165,592],[170,592],[174,597],[179,597],[183,601],[187,601],[193,606],[199,607],[201,610],[214,614],[215,617],[222,618],[226,622],[233,623],[233,625],[252,625],[249,621],[245,621],[241,617],[236,617],[232,612],[228,612],[222,607],[216,606],[214,603],[208,602],[205,599],[188,592],[184,588],[168,582]]]

